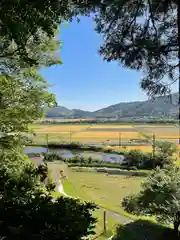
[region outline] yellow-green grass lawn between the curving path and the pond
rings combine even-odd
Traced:
[[[122,213],[121,201],[140,189],[144,178],[115,176],[93,172],[68,171],[63,181],[65,192],[71,196],[93,201],[106,209]]]

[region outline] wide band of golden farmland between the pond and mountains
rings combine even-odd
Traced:
[[[177,142],[179,131],[176,125],[151,124],[35,124],[31,128],[36,133],[35,144],[80,142],[85,144],[130,145],[129,141],[140,144],[146,136],[156,139]],[[131,144],[133,145],[133,144]],[[148,144],[146,144],[148,145]]]

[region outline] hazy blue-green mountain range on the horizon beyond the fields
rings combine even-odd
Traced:
[[[158,97],[154,100],[118,103],[94,112],[57,106],[50,109],[46,116],[49,118],[176,117],[177,107],[178,93],[173,93],[169,97]]]

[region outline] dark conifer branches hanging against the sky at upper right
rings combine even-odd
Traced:
[[[177,78],[178,1],[106,1],[95,17],[105,60],[142,70],[149,95],[169,93]],[[164,81],[167,77],[169,82]]]

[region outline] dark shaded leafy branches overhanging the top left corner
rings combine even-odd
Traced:
[[[88,14],[94,10],[96,1],[0,0],[1,40],[6,49],[13,45],[11,51],[0,54],[0,59],[17,55],[31,66],[36,65],[32,55],[28,56],[27,42],[31,39],[38,46],[42,41],[39,31],[54,37],[61,23],[71,21],[73,16]]]

